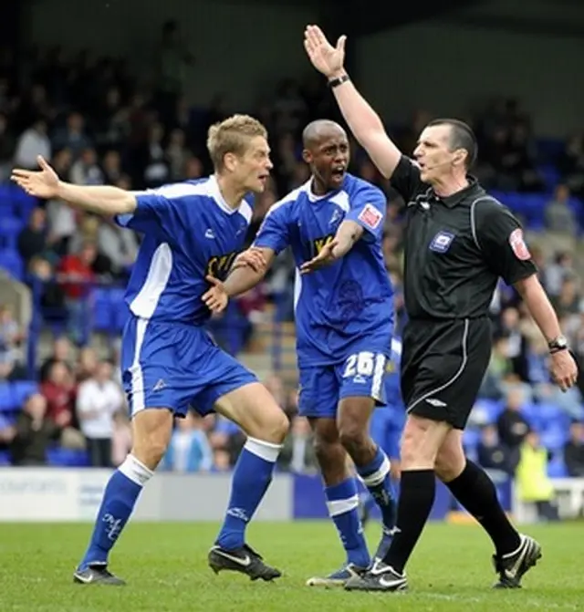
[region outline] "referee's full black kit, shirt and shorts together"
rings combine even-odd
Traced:
[[[401,393],[408,413],[464,429],[491,356],[498,278],[537,272],[516,217],[468,177],[439,197],[402,157],[391,186],[408,202],[404,235]]]

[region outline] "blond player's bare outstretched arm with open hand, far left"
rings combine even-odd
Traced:
[[[15,169],[10,177],[26,193],[45,200],[58,199],[89,213],[113,216],[133,213],[136,198],[118,187],[72,185],[60,181],[54,171],[40,155],[37,158],[40,171]]]

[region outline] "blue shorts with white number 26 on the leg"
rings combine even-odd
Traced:
[[[343,398],[372,398],[385,403],[383,353],[360,351],[344,362],[299,369],[298,413],[303,417],[334,419]]]

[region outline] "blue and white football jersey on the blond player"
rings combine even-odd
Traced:
[[[250,202],[224,201],[214,176],[134,192],[123,227],[144,234],[126,289],[135,316],[203,325],[210,316],[201,296],[206,275],[223,279],[241,251],[252,216]]]

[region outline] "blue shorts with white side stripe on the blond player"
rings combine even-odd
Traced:
[[[256,382],[201,327],[130,316],[122,335],[121,373],[130,415],[167,408],[183,417],[213,412],[226,393]]]

